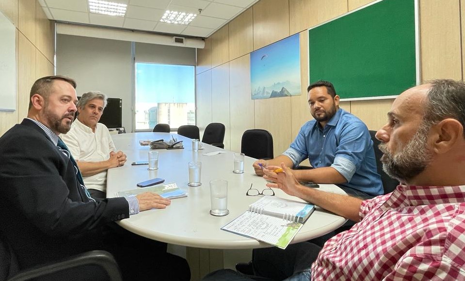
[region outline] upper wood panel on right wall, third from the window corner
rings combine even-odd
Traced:
[[[253,16],[252,8],[249,8],[229,22],[229,60],[254,50]]]

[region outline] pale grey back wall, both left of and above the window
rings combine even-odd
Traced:
[[[57,34],[57,74],[76,79],[78,95],[101,91],[123,99],[122,118],[133,132],[131,42]],[[135,43],[137,62],[195,65],[195,48]]]

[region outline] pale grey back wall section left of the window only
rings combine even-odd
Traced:
[[[78,95],[101,91],[123,99],[123,126],[131,132],[131,42],[57,34],[56,48],[57,75],[76,79]]]

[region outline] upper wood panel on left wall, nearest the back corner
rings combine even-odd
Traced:
[[[36,47],[44,54],[44,56],[54,63],[55,61],[55,23],[48,20],[44,10],[40,5],[36,7]]]

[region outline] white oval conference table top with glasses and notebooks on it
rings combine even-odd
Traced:
[[[140,140],[164,139],[169,141],[171,136],[179,141],[182,140],[184,149],[157,150],[160,152],[158,170],[148,171],[147,165],[131,165],[133,161],[147,160],[149,147],[141,146]],[[232,172],[233,152],[208,144],[203,144],[203,150],[194,152],[191,147],[191,139],[177,134],[147,132],[119,134],[112,137],[117,149],[126,153],[128,161],[123,167],[108,170],[108,197],[116,197],[117,191],[137,188],[138,182],[156,177],[165,179],[165,183],[175,182],[179,188],[188,193],[188,197],[173,199],[171,205],[166,209],[152,209],[121,220],[119,224],[122,227],[147,238],[195,248],[252,249],[270,247],[266,243],[221,230],[221,227],[246,211],[249,204],[260,198],[260,196],[246,196],[247,189],[251,184],[260,191],[266,188],[266,181],[255,175],[252,167],[252,163],[256,159],[246,156],[244,173],[236,174]],[[213,156],[203,155],[215,151],[224,153]],[[189,161],[202,162],[202,185],[199,187],[187,185]],[[229,214],[224,217],[215,217],[209,214],[209,182],[214,179],[224,179],[228,182],[227,207]],[[320,189],[344,194],[336,185],[321,184]],[[279,189],[275,189],[274,192],[278,197],[300,200]],[[342,217],[317,208],[307,219],[292,243],[329,233],[344,224],[345,221],[346,219]]]

